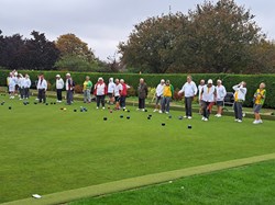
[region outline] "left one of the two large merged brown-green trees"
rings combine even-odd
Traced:
[[[175,62],[173,49],[185,35],[187,18],[182,13],[150,18],[135,25],[127,43],[120,43],[122,61],[142,72],[167,72]]]

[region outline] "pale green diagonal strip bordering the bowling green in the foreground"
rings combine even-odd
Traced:
[[[142,175],[120,181],[113,181],[109,183],[91,185],[87,187],[80,187],[76,190],[69,190],[64,192],[57,192],[53,194],[42,195],[42,198],[25,198],[13,202],[3,203],[2,205],[48,205],[48,204],[62,204],[85,197],[99,196],[110,194],[114,192],[136,189],[145,185],[152,185],[157,183],[176,180],[184,176],[209,173],[213,171],[224,170],[229,168],[235,168],[246,164],[252,164],[261,161],[267,161],[275,159],[275,153],[268,153],[263,156],[255,156],[243,159],[235,159],[230,161],[210,163],[206,166],[198,166],[193,168],[186,168],[180,170],[161,172],[155,174]]]

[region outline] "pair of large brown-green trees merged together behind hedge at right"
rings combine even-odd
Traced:
[[[266,38],[253,19],[233,0],[148,18],[119,44],[121,60],[145,72],[246,72],[252,47]]]

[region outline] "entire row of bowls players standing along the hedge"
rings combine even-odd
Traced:
[[[47,81],[44,79],[43,75],[37,77],[37,81],[35,81],[38,94],[38,102],[46,102],[46,90],[47,90]],[[29,75],[18,73],[16,70],[10,72],[7,78],[8,90],[10,93],[10,99],[14,99],[15,91],[19,91],[20,100],[30,98],[30,88],[31,88],[31,79]],[[62,79],[61,75],[56,75],[56,98],[57,102],[61,103],[63,100],[62,92],[66,90],[66,101],[67,104],[70,105],[74,102],[74,89],[75,82],[70,76],[70,73],[66,73],[66,81]],[[128,95],[128,86],[123,79],[109,78],[108,84],[105,83],[103,78],[98,78],[97,83],[92,87],[92,82],[90,78],[86,76],[86,79],[82,83],[82,92],[84,92],[84,103],[91,102],[91,92],[94,89],[94,94],[97,100],[97,109],[105,109],[106,104],[106,95],[109,96],[109,103],[116,104],[116,110],[125,109],[125,99]],[[232,87],[234,90],[234,103],[233,110],[235,115],[235,121],[241,123],[243,118],[242,104],[245,101],[246,95],[246,83],[244,81],[240,82]],[[138,87],[138,96],[139,96],[139,109],[140,111],[145,111],[145,99],[147,96],[148,89],[143,78],[140,79],[140,83]],[[209,116],[211,114],[212,106],[217,105],[217,114],[215,116],[221,117],[222,109],[224,105],[224,98],[227,95],[227,90],[224,86],[222,86],[221,80],[217,80],[217,86],[213,86],[212,79],[209,79],[207,83],[204,79],[200,80],[199,86],[193,81],[191,76],[187,76],[186,82],[183,88],[178,91],[179,96],[184,96],[185,99],[185,117],[190,119],[193,118],[193,101],[194,98],[198,94],[198,102],[200,105],[200,114],[202,115],[202,121],[209,121]],[[174,96],[174,87],[170,84],[169,80],[162,79],[160,84],[156,87],[155,92],[155,110],[154,112],[160,113],[169,113],[169,104],[172,98]],[[253,124],[263,123],[261,119],[260,111],[264,104],[266,96],[265,83],[262,82],[254,93],[253,102],[254,102],[254,115],[255,121]]]

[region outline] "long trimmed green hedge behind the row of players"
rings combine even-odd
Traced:
[[[0,70],[0,86],[7,86],[7,77],[9,76],[9,70]],[[29,73],[32,82],[37,79],[41,71],[19,71],[21,73]],[[66,71],[43,71],[45,79],[52,84],[55,84],[55,76],[59,73],[65,78]],[[139,79],[144,78],[148,87],[156,87],[161,79],[169,79],[170,83],[175,89],[180,89],[186,82],[187,73],[176,73],[176,75],[150,75],[150,73],[99,73],[99,72],[70,72],[76,84],[82,84],[85,77],[89,76],[92,83],[97,82],[99,77],[102,77],[106,82],[109,78],[123,78],[128,84],[133,87],[135,90],[139,84]],[[223,86],[227,88],[228,92],[233,92],[232,87],[241,81],[248,83],[248,94],[245,106],[252,106],[253,94],[261,82],[266,83],[267,96],[265,101],[265,107],[275,109],[275,75],[227,75],[227,73],[194,73],[193,80],[199,83],[200,79],[212,79],[215,82],[218,79],[223,81]],[[34,86],[34,84],[33,84]]]

